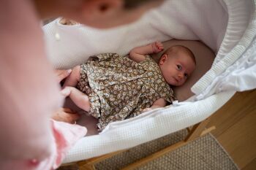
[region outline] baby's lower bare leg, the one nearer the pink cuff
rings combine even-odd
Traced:
[[[69,98],[71,98],[71,100],[81,109],[85,110],[86,112],[90,111],[89,97],[77,88],[67,86],[61,90],[61,93],[64,96],[69,96]]]

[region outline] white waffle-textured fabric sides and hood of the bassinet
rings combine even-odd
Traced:
[[[216,53],[211,69],[191,90],[194,96],[138,117],[110,123],[101,134],[80,139],[64,163],[135,147],[205,120],[236,91],[256,88],[256,19],[253,0],[167,0],[138,22],[110,30],[44,26],[48,56],[67,69],[97,53],[126,54],[156,40],[200,40]]]

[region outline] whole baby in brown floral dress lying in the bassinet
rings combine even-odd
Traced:
[[[196,63],[193,53],[180,45],[165,50],[159,63],[148,55],[163,49],[161,42],[154,42],[135,47],[128,56],[93,56],[72,69],[62,93],[98,118],[99,130],[110,122],[165,107],[174,100],[170,85],[183,85]]]

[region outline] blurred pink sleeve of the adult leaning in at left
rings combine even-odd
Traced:
[[[0,159],[50,155],[62,96],[31,1],[0,1]]]

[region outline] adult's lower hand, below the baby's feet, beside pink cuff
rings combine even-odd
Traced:
[[[80,115],[78,115],[78,113],[73,112],[69,108],[60,108],[51,115],[53,120],[72,124],[76,123],[79,117]]]

